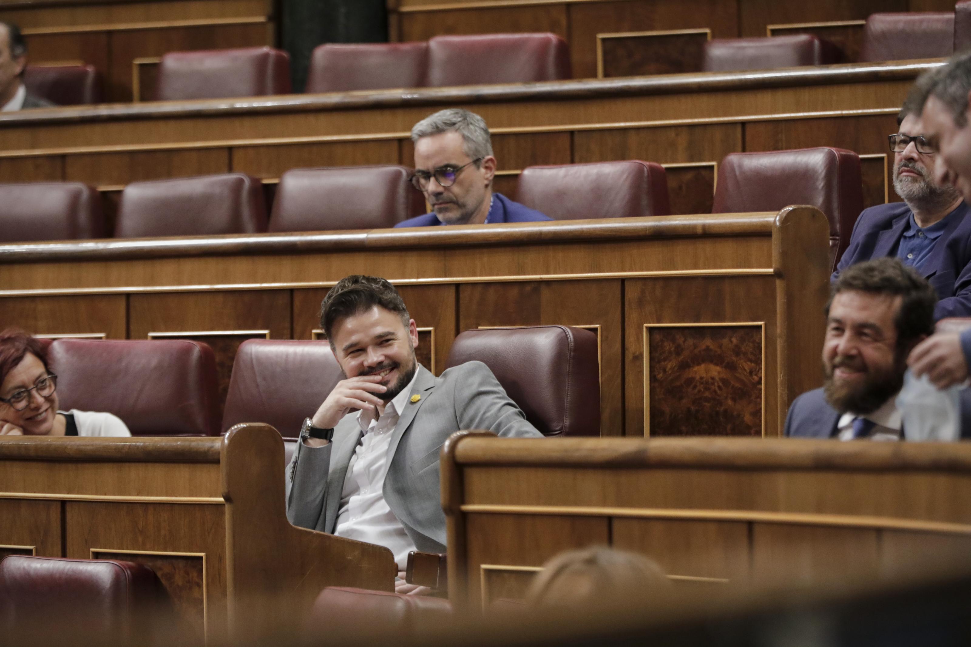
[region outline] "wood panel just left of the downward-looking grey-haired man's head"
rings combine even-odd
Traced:
[[[248,173],[254,178],[279,178],[290,169],[398,163],[398,143],[395,140],[239,146],[231,152],[232,170]]]

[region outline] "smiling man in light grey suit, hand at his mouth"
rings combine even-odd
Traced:
[[[412,550],[445,552],[439,450],[448,437],[542,435],[485,364],[439,377],[421,367],[415,320],[384,278],[342,279],[323,300],[320,326],[346,378],[304,421],[286,469],[286,516],[386,546],[403,571]],[[414,591],[403,580],[396,588]]]

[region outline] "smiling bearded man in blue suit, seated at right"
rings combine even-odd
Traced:
[[[907,355],[934,332],[937,296],[898,259],[858,263],[836,280],[826,305],[824,386],[789,407],[787,437],[902,438],[894,400]]]

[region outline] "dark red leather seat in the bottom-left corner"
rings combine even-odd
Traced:
[[[5,644],[52,644],[44,636],[63,638],[65,631],[90,644],[97,637],[151,642],[139,630],[170,608],[155,572],[142,564],[23,555],[0,561]]]

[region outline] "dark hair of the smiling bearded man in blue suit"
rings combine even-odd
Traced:
[[[937,293],[927,279],[892,257],[877,258],[851,265],[833,284],[825,314],[840,292],[866,292],[903,297],[893,324],[897,328],[897,349],[908,348],[921,337],[934,333],[934,307]]]

